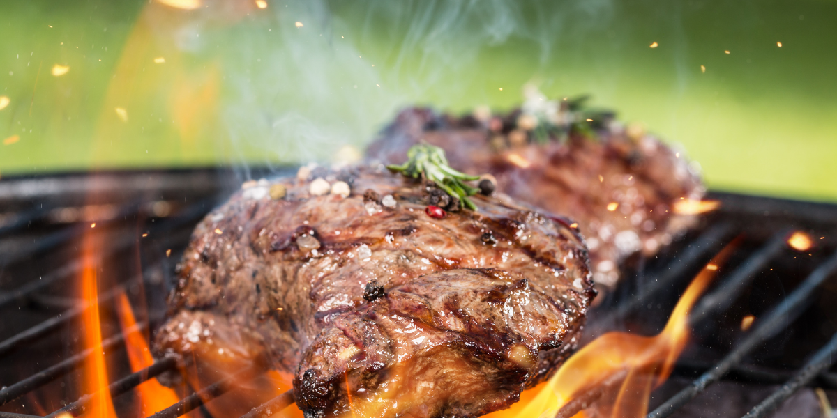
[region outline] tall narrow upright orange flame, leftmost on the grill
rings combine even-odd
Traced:
[[[85,309],[83,315],[85,324],[84,341],[85,347],[94,349],[93,353],[90,354],[90,359],[85,364],[84,381],[82,382],[85,393],[93,394],[85,411],[85,416],[90,418],[116,418],[116,411],[113,408],[113,401],[110,399],[110,390],[108,390],[105,354],[101,349],[99,286],[96,283],[95,261],[98,247],[94,232],[85,233],[82,238],[81,257],[84,267],[81,270],[81,294],[89,308]]]

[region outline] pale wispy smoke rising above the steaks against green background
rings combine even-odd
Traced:
[[[568,19],[595,32],[614,10],[610,0],[269,4],[232,25],[183,28],[182,50],[219,63],[232,141],[223,148],[234,163],[333,161],[342,145],[362,150],[410,104],[516,104]]]

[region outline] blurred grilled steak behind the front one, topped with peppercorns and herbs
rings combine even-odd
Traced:
[[[412,145],[437,145],[454,169],[490,173],[512,198],[572,217],[587,238],[594,281],[608,288],[625,257],[654,254],[695,222],[672,206],[700,200],[705,189],[686,159],[653,136],[571,107],[461,118],[403,110],[367,155],[393,163]]]

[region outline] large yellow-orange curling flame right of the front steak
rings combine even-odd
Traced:
[[[686,347],[689,313],[732,253],[727,245],[686,288],[665,329],[654,337],[608,333],[574,354],[548,382],[521,394],[521,401],[490,418],[612,416],[648,412],[651,390],[661,385]],[[709,268],[714,266],[715,268]],[[578,413],[577,413],[578,412]]]

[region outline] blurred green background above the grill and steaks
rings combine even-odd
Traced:
[[[259,3],[0,3],[0,175],[329,161],[405,105],[507,109],[532,83],[682,146],[715,190],[837,201],[833,0]]]

